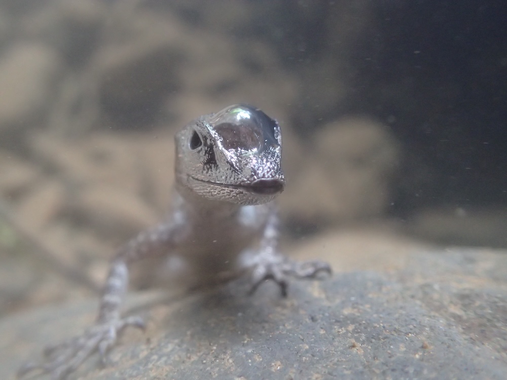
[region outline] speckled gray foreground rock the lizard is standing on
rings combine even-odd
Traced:
[[[139,293],[129,330],[86,379],[507,378],[507,254],[413,249],[391,272],[338,273],[245,296],[236,281],[190,295]],[[0,378],[90,323],[96,301],[0,322]],[[77,377],[76,377],[77,378]]]

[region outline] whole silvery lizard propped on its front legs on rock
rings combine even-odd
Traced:
[[[98,351],[102,360],[137,316],[122,317],[129,266],[148,257],[179,254],[201,282],[228,271],[249,273],[250,293],[265,280],[287,295],[290,277],[331,273],[328,263],[298,262],[278,249],[274,199],[283,191],[281,131],[259,108],[236,104],[201,116],[175,135],[175,195],[165,222],[141,232],[114,256],[96,322],[81,336],[47,348],[42,363],[27,363],[23,377],[39,370],[55,380]]]

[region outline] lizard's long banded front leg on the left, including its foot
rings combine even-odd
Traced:
[[[122,318],[120,315],[121,304],[128,286],[128,266],[140,259],[170,252],[175,245],[174,236],[181,232],[177,230],[174,223],[162,224],[140,233],[124,245],[111,263],[95,324],[85,330],[81,336],[46,348],[45,360],[42,363],[24,365],[19,370],[18,376],[40,370],[42,373],[51,374],[54,380],[63,379],[75,371],[95,351],[100,353],[104,362],[106,353],[116,344],[118,337],[127,326],[144,328],[144,322],[140,317]]]

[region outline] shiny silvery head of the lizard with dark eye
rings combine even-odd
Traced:
[[[180,192],[256,205],[283,191],[280,126],[256,107],[236,104],[202,116],[175,142]]]

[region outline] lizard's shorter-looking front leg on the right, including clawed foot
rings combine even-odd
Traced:
[[[332,273],[327,262],[294,261],[278,251],[278,215],[271,212],[266,222],[259,253],[253,260],[250,294],[253,294],[265,280],[273,280],[280,287],[281,295],[287,296],[288,278],[315,278],[320,272]]]

